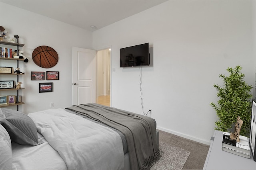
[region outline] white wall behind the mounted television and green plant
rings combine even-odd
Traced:
[[[217,120],[214,83],[242,66],[255,84],[251,1],[171,0],[93,32],[93,48],[112,46],[112,107],[142,113],[139,68],[120,68],[119,49],[153,47],[154,66],[142,67],[145,111],[158,129],[209,144]]]

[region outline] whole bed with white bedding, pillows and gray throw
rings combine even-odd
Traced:
[[[150,169],[160,158],[156,121],[99,104],[28,115],[0,109],[0,169]]]

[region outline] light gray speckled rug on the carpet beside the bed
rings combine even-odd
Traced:
[[[161,158],[150,170],[182,170],[190,152],[159,141]]]

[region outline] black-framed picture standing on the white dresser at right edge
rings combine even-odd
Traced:
[[[252,119],[250,129],[250,149],[252,151],[252,158],[256,161],[256,100],[252,99]]]

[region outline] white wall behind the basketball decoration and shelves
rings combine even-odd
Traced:
[[[20,90],[24,105],[20,111],[31,113],[43,109],[65,108],[72,105],[72,46],[92,49],[92,33],[84,29],[0,2],[0,25],[8,31],[8,39],[19,35],[19,43],[29,62],[20,62],[23,82]],[[41,68],[32,60],[33,50],[41,45],[50,46],[58,53],[59,61],[52,68]],[[4,64],[1,60],[0,65]],[[15,62],[13,67],[15,67]],[[60,80],[31,81],[31,71],[59,71]],[[1,78],[1,77],[0,77]],[[16,80],[16,77],[13,77]],[[53,92],[39,93],[39,82],[53,82]],[[7,108],[7,107],[6,107]],[[9,107],[12,108],[12,107]],[[16,107],[14,107],[16,109]]]

